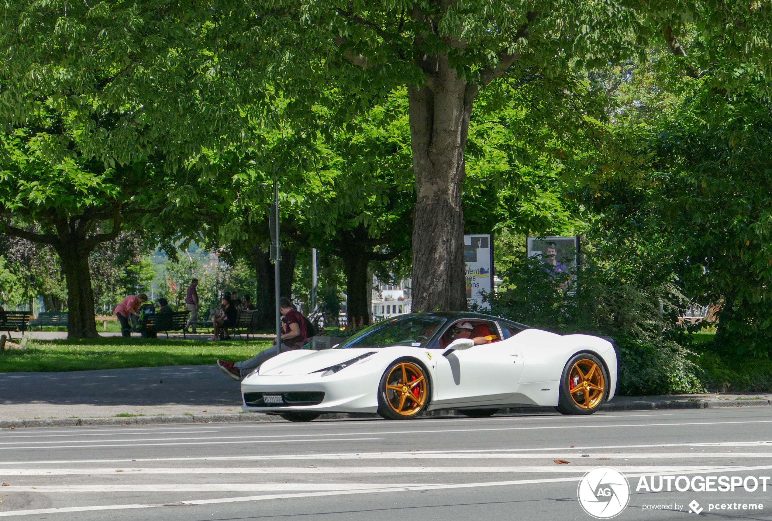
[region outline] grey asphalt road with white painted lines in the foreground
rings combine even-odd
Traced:
[[[4,429],[0,517],[592,519],[577,484],[598,465],[628,477],[615,519],[685,519],[692,500],[709,518],[772,519],[772,479],[766,491],[636,490],[642,474],[752,488],[745,478],[772,475],[772,407]]]

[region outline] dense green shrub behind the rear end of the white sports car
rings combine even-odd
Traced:
[[[502,275],[506,289],[489,296],[493,313],[555,333],[614,339],[618,394],[705,391],[693,354],[676,342],[685,334],[677,318],[688,299],[672,282],[642,287],[591,255],[575,281],[537,259],[516,259]]]

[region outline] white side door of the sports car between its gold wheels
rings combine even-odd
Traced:
[[[485,322],[491,333],[503,337],[496,321]],[[513,340],[483,343],[438,356],[436,371],[434,404],[505,404],[520,381],[522,354]]]

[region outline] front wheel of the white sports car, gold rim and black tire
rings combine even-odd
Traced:
[[[429,381],[424,368],[409,358],[395,361],[378,386],[378,414],[387,420],[415,418],[428,405]]]

